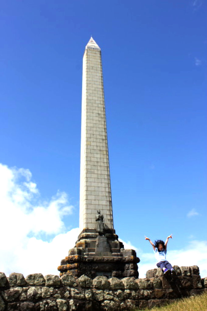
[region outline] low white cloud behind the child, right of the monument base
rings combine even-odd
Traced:
[[[137,254],[140,257],[139,277],[144,278],[147,270],[156,268],[155,257],[153,250],[151,253],[140,252]],[[207,276],[207,241],[193,240],[189,242],[185,248],[170,250],[167,253],[168,261],[174,266],[194,266],[200,268],[200,276]]]

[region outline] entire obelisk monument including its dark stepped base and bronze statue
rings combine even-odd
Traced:
[[[138,277],[135,250],[124,249],[113,228],[101,49],[92,37],[83,57],[79,225],[60,276]]]

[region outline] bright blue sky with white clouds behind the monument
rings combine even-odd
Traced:
[[[13,226],[1,271],[29,274],[21,258],[33,242],[39,253],[55,248],[56,270],[76,241],[82,57],[92,35],[116,233],[137,249],[142,273],[154,268],[144,235],[173,234],[168,260],[207,276],[206,11],[204,0],[2,1],[0,213]]]

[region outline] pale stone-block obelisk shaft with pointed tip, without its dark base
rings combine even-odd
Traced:
[[[96,228],[97,209],[113,229],[101,49],[91,37],[83,56],[80,231]]]

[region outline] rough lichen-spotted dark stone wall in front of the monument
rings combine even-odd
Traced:
[[[207,277],[200,278],[199,268],[174,266],[177,275],[166,278],[159,269],[149,270],[145,279],[122,280],[82,275],[77,280],[68,274],[0,272],[0,311],[47,310],[133,310],[171,303],[178,298],[207,290]]]

